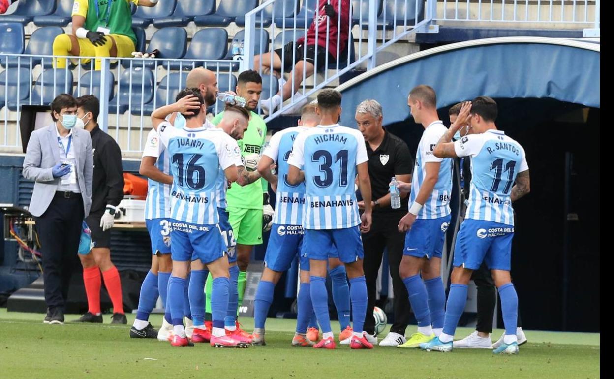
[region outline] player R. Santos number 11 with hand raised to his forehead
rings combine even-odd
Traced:
[[[514,210],[511,203],[530,191],[529,165],[524,149],[497,130],[497,103],[481,96],[465,103],[456,122],[435,146],[437,157],[471,157],[471,189],[465,221],[454,249],[454,270],[443,332],[422,343],[426,351],[452,351],[454,331],[467,302],[467,284],[482,262],[491,269],[501,298],[505,336],[495,354],[518,354],[516,319],[518,295],[511,283],[511,240]],[[451,143],[463,125],[469,135]]]

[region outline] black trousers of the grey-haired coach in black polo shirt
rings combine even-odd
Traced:
[[[373,307],[375,307],[377,279],[379,266],[384,256],[384,248],[388,251],[390,275],[392,276],[392,291],[394,293],[394,324],[391,332],[405,335],[405,329],[410,319],[410,300],[403,280],[398,275],[398,267],[403,258],[405,246],[405,233],[398,232],[398,222],[405,216],[405,211],[389,213],[373,213],[371,230],[362,235],[362,244],[365,250],[363,270],[367,281],[367,315],[363,329],[373,334],[375,332],[375,319]]]

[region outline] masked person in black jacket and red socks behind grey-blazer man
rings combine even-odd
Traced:
[[[98,127],[100,103],[93,95],[77,98],[77,124],[90,132],[94,150],[94,179],[91,210],[85,222],[91,230],[94,248],[90,254],[81,255],[83,281],[87,294],[88,311],[77,322],[103,322],[100,310],[102,278],[113,304],[111,324],[125,324],[122,283],[119,272],[111,262],[111,227],[115,207],[123,199],[122,151],[111,136]]]

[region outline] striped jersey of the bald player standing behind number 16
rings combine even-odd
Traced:
[[[143,157],[155,157],[158,160],[155,166],[158,170],[165,174],[171,174],[171,160],[168,156],[163,143],[160,143],[160,137],[155,130],[150,130],[147,135],[147,141],[143,149]],[[153,179],[147,179],[147,198],[145,200],[145,219],[161,219],[167,218],[171,214],[171,202],[169,195],[171,193],[171,185],[157,182]]]

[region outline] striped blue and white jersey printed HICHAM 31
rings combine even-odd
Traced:
[[[368,161],[360,131],[318,125],[297,135],[288,164],[305,171],[303,228],[345,229],[360,224],[354,179]]]

